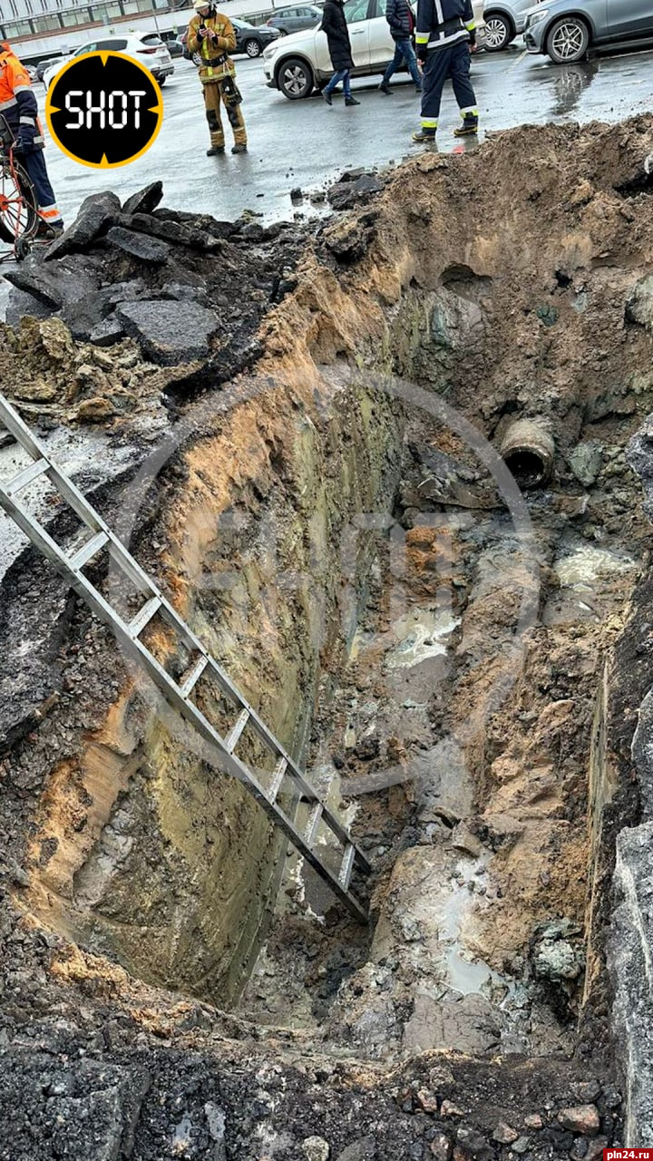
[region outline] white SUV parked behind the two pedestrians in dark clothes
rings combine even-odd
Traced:
[[[473,7],[482,34],[483,0],[473,0]],[[343,10],[354,63],[352,77],[383,73],[395,51],[386,20],[386,0],[345,0]],[[323,88],[333,74],[326,36],[320,26],[268,45],[263,53],[263,67],[268,88],[278,88],[290,101],[310,96],[314,88]]]

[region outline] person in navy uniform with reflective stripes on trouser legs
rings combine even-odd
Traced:
[[[415,33],[422,62],[422,129],[414,142],[435,142],[444,84],[451,78],[462,124],[454,137],[479,131],[479,109],[469,80],[469,51],[476,42],[472,0],[417,0]]]

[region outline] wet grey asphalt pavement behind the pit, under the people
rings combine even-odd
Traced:
[[[165,204],[178,209],[232,218],[249,208],[267,221],[288,218],[302,209],[293,207],[290,189],[316,189],[344,168],[399,163],[418,150],[410,135],[418,125],[419,99],[403,77],[395,77],[393,96],[378,92],[379,77],[357,80],[353,88],[360,107],[345,109],[342,98],[336,98],[329,109],[320,96],[288,101],[268,89],[260,60],[237,57],[236,63],[250,138],[246,154],[206,156],[208,131],[195,68],[177,59],[174,77],[163,89],[163,128],[144,157],[113,171],[92,170],[49,145],[48,167],[64,217],[72,221],[88,193],[112,188],[124,197],[160,178]],[[652,64],[653,51],[645,51],[555,66],[545,57],[525,53],[521,42],[507,52],[480,53],[472,74],[482,129],[525,122],[619,121],[650,110]],[[43,108],[41,85],[37,96]],[[440,150],[452,149],[457,123],[458,109],[447,86]],[[227,132],[229,147],[228,127]]]

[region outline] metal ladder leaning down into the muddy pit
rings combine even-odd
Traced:
[[[224,670],[217,664],[193,630],[179,616],[166,600],[160,589],[144,572],[138,562],[127,550],[124,545],[108,527],[102,517],[88,504],[72,481],[52,462],[45,448],[33,435],[21,417],[0,395],[0,423],[15,438],[16,442],[29,454],[31,463],[19,471],[7,483],[0,482],[0,506],[17,524],[33,545],[56,567],[65,580],[86,601],[95,615],[110,626],[117,641],[134,656],[137,663],[149,675],[162,692],[165,701],[177,711],[186,722],[194,728],[200,737],[216,748],[215,765],[222,772],[232,774],[257,800],[272,821],[286,835],[307,863],[328,884],[331,890],[345,903],[349,910],[361,922],[367,921],[367,907],[354,894],[351,880],[354,868],[364,874],[371,870],[365,854],[358,849],[349,831],[339,819],[329,809],[290,755],[277,741],[256,711],[231,683]],[[38,478],[46,478],[70,507],[76,512],[91,535],[86,542],[72,550],[65,551],[50,536],[42,524],[31,515],[17,498],[19,493]],[[84,569],[103,549],[136,590],[143,594],[143,605],[131,620],[123,620],[119,612],[105,599],[102,593],[84,575]],[[141,634],[155,615],[160,616],[177,634],[180,642],[189,650],[191,661],[180,682],[171,677],[156,659],[150,649],[141,641]],[[202,675],[210,677],[221,694],[229,700],[237,712],[236,720],[227,734],[222,736],[211,726],[204,713],[195,705],[193,691]],[[264,785],[254,771],[242,760],[237,753],[238,742],[245,727],[253,730],[266,751],[272,756],[274,769],[268,785]],[[286,783],[292,789],[293,807],[306,803],[308,821],[304,827],[296,825],[296,809],[286,812],[280,798],[281,787]],[[292,816],[290,816],[292,815]],[[328,843],[317,843],[318,829],[323,827]],[[329,846],[333,853],[336,839],[336,866],[328,865]],[[321,849],[322,848],[322,849]],[[339,864],[339,865],[338,865]]]

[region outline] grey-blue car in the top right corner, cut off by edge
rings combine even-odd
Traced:
[[[528,14],[529,52],[555,64],[582,60],[589,48],[632,48],[653,41],[653,0],[544,0]]]

